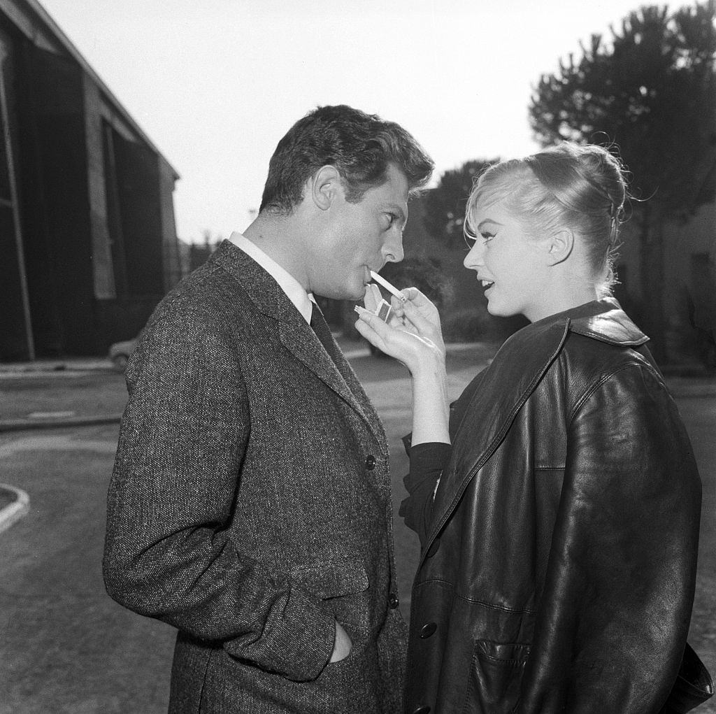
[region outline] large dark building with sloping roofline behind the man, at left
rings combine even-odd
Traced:
[[[36,0],[0,0],[0,360],[105,354],[180,278],[158,152]]]

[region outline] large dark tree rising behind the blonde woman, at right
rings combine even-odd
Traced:
[[[599,34],[582,57],[544,74],[532,97],[531,126],[542,145],[561,140],[619,148],[631,174],[644,302],[654,337],[664,333],[660,228],[714,200],[716,1],[682,8],[644,6]],[[657,350],[661,347],[657,339]]]

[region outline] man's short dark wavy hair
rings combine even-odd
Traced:
[[[306,180],[321,166],[337,168],[347,201],[387,180],[395,164],[407,178],[410,193],[422,188],[433,163],[403,127],[347,105],[318,107],[299,119],[279,141],[269,162],[259,211],[288,215],[301,203]]]

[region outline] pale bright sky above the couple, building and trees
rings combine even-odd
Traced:
[[[531,153],[528,104],[541,74],[648,4],[40,3],[180,174],[174,207],[185,241],[248,226],[276,143],[319,105],[399,122],[435,160],[435,180],[470,159]]]

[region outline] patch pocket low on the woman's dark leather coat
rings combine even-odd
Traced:
[[[465,713],[509,714],[517,705],[530,646],[491,640],[475,642]]]

